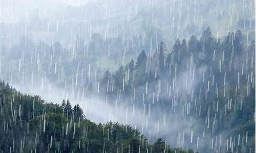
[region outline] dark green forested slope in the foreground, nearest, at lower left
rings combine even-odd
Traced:
[[[0,81],[1,152],[180,152],[159,138],[149,144],[140,132],[118,122],[96,124],[69,99],[61,105],[16,91]]]

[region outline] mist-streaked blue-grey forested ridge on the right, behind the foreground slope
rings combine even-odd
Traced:
[[[162,132],[171,144],[195,150],[253,152],[254,57],[254,40],[240,30],[221,39],[207,28],[200,38],[177,39],[169,53],[160,42],[155,53],[142,51],[86,87],[116,107],[127,105],[133,116],[143,112],[155,125],[150,131],[141,123],[151,138]]]

